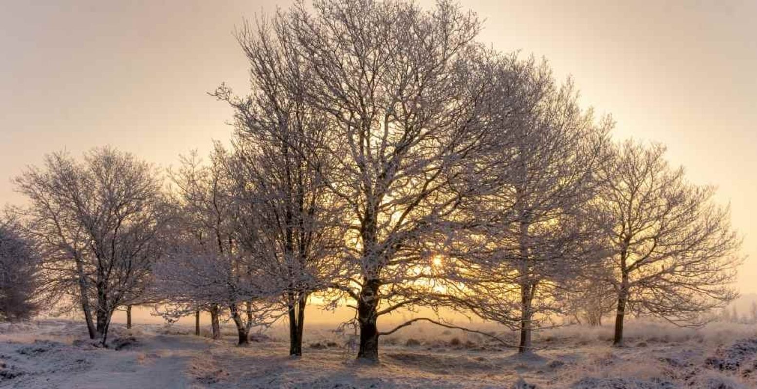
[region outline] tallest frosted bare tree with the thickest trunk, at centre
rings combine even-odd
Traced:
[[[328,0],[314,2],[312,13],[294,5],[271,26],[245,39],[245,50],[308,72],[270,87],[301,90],[328,127],[331,142],[320,152],[337,165],[323,185],[348,211],[352,273],[338,288],[356,301],[358,357],[375,361],[378,317],[434,297],[428,274],[418,272],[429,260],[423,242],[468,195],[453,184],[487,134],[476,115],[486,83],[474,71],[479,23],[450,2],[422,11],[408,2]]]

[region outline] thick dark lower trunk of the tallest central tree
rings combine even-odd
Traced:
[[[369,279],[357,301],[357,321],[360,324],[360,349],[357,359],[378,363],[378,279]]]

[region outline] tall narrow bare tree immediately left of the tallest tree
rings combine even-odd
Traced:
[[[327,149],[338,142],[328,114],[305,101],[313,64],[290,61],[293,48],[274,39],[272,28],[261,21],[238,33],[251,65],[252,94],[238,98],[221,86],[215,95],[235,109],[229,172],[239,207],[237,236],[278,283],[289,353],[301,355],[308,297],[333,285],[341,271],[344,201],[326,185],[338,165]]]

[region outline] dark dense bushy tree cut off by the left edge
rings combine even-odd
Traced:
[[[12,219],[0,220],[0,319],[29,319],[39,310],[39,257]]]

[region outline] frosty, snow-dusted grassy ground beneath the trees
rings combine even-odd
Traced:
[[[285,331],[236,347],[192,328],[136,325],[113,331],[120,350],[86,340],[80,322],[45,319],[0,325],[0,387],[23,388],[411,388],[535,387],[729,389],[757,387],[757,328],[715,324],[699,330],[631,323],[628,347],[609,347],[610,328],[541,332],[533,355],[478,335],[418,325],[382,339],[381,363],[354,361],[354,335],[310,328],[304,356],[287,356]]]

